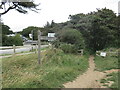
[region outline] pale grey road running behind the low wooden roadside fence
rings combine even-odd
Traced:
[[[16,53],[20,53],[20,52],[24,52],[24,51],[30,51],[32,50],[32,47],[33,49],[37,48],[36,46],[23,46],[21,48],[17,48],[15,51]],[[41,48],[44,48],[44,47],[48,47],[48,45],[41,45]],[[13,54],[14,53],[14,50],[13,49],[6,49],[6,50],[0,50],[0,55],[4,55],[4,54]]]

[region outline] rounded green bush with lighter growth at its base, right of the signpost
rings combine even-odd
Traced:
[[[64,28],[58,32],[58,40],[54,41],[55,48],[62,49],[65,53],[77,53],[85,47],[82,34],[76,29]]]

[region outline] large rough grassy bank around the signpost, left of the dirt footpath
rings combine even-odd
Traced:
[[[59,88],[88,68],[88,56],[64,54],[61,50],[3,59],[3,88]]]

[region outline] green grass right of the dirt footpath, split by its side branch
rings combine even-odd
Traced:
[[[115,51],[116,49],[113,49]],[[106,57],[101,57],[101,56],[95,56],[95,64],[96,64],[96,70],[99,71],[106,71],[106,70],[111,70],[111,69],[120,69],[119,67],[119,59],[118,56],[113,54],[113,55],[108,55]],[[119,73],[119,74],[118,74]],[[118,75],[120,75],[120,72],[118,73],[111,73],[108,74],[106,78],[101,80],[101,83],[103,83],[104,86],[107,86],[109,88],[118,88]],[[108,85],[109,82],[113,82],[111,86]]]

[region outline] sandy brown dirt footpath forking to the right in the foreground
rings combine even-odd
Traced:
[[[90,56],[89,58],[89,68],[83,74],[76,78],[76,80],[72,82],[68,82],[64,84],[65,88],[107,88],[103,87],[100,84],[100,80],[105,78],[107,74],[111,72],[117,72],[118,70],[109,70],[105,72],[95,71],[95,63],[94,57]]]

